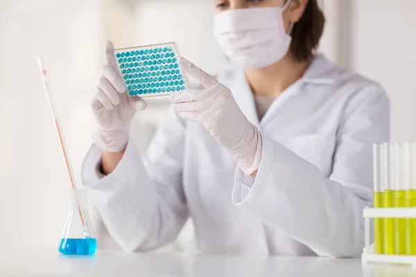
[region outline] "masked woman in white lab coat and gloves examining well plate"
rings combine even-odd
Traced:
[[[128,134],[146,103],[125,101],[105,44],[83,180],[110,235],[155,249],[192,217],[200,253],[359,256],[372,143],[389,139],[385,92],[315,55],[316,0],[214,5],[214,34],[238,66],[214,78],[181,60],[202,87],[171,97],[143,159]]]

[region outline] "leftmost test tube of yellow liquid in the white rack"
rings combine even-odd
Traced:
[[[374,208],[383,208],[383,148],[380,144],[373,144],[373,183]],[[374,218],[374,253],[384,253],[384,222],[383,218]]]

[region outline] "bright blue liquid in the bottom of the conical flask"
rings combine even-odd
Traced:
[[[59,247],[64,255],[94,255],[96,250],[95,238],[62,238]]]

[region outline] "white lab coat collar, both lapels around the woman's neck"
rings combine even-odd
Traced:
[[[254,96],[250,85],[245,78],[244,70],[239,69],[237,72],[235,82],[232,85],[234,98],[248,120],[256,127],[260,127],[259,117],[257,116],[257,110],[254,105]],[[269,109],[277,109],[277,106],[282,105],[284,100],[300,93],[302,84],[333,84],[336,82],[336,75],[338,75],[337,66],[332,62],[329,62],[324,55],[317,55],[309,68],[306,69],[303,77],[300,78],[300,80],[297,80],[295,84],[292,84],[291,87],[288,87],[288,89],[279,96],[279,98],[285,99],[275,101],[278,103],[274,102]],[[270,114],[270,111],[267,114]]]

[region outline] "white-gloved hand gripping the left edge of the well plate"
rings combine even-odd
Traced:
[[[98,148],[119,152],[128,141],[130,122],[136,110],[146,109],[144,100],[128,102],[127,87],[116,65],[112,42],[104,45],[105,66],[101,68],[97,89],[91,100],[96,120],[92,139]]]

